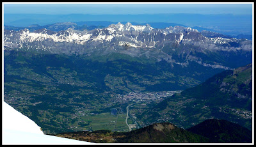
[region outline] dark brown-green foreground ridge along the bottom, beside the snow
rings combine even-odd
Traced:
[[[252,143],[252,132],[225,120],[205,120],[185,130],[172,123],[154,123],[131,132],[68,132],[58,137],[93,143]]]

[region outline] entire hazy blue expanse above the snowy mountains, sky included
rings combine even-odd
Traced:
[[[164,22],[238,35],[252,34],[253,24],[253,3],[3,3],[3,8],[4,25],[8,26]]]

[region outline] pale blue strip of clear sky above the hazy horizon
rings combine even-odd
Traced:
[[[252,15],[253,3],[4,3],[4,13]]]

